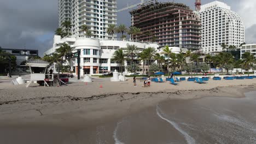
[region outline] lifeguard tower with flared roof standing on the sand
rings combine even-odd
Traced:
[[[30,67],[30,75],[31,76],[30,76],[30,82],[27,83],[26,87],[30,86],[30,83],[32,81],[43,81],[44,86],[45,85],[49,86],[46,81],[50,81],[50,80],[45,79],[46,70],[47,70],[47,67],[48,67],[49,64],[50,63],[45,62],[45,61],[40,60],[40,59],[33,59],[31,61],[28,61],[26,63],[26,65],[28,67]],[[53,76],[51,78],[53,79]]]

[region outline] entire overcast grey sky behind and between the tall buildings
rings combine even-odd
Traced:
[[[118,9],[141,0],[118,0]],[[159,2],[172,2],[159,0]],[[174,0],[195,9],[194,0]],[[212,2],[202,0],[202,4]],[[256,1],[221,0],[238,13],[246,28],[246,43],[256,43]],[[129,10],[118,13],[118,25],[131,25]],[[57,0],[0,0],[0,46],[9,49],[38,49],[40,55],[53,45],[57,28]]]

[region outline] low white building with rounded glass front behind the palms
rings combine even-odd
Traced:
[[[139,43],[135,41],[129,40],[117,40],[117,39],[92,39],[85,37],[70,37],[61,39],[59,35],[55,35],[54,37],[54,45],[53,48],[44,52],[45,55],[51,55],[56,51],[57,48],[60,47],[61,44],[69,44],[71,47],[74,47],[73,52],[77,52],[77,50],[81,51],[80,54],[80,74],[102,74],[107,71],[119,70],[119,63],[112,61],[111,58],[115,50],[118,49],[126,49],[127,45],[136,45],[138,47],[139,52],[143,51],[148,47],[154,47],[155,50],[158,49],[159,45],[156,43]],[[180,48],[177,47],[173,49],[175,51],[180,51]],[[160,50],[157,50],[161,52]],[[136,59],[135,59],[136,61]],[[138,61],[136,61],[140,64]],[[77,58],[71,58],[68,61],[68,65],[71,65],[77,74]],[[124,63],[125,67],[127,63]],[[142,67],[142,66],[141,66]],[[73,70],[72,69],[72,70]],[[124,69],[124,68],[123,68]],[[142,70],[141,70],[142,71]],[[147,71],[147,68],[146,68]],[[125,73],[127,74],[127,70],[125,69]]]

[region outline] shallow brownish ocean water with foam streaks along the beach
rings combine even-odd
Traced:
[[[251,144],[256,143],[256,92],[246,93],[246,98],[164,101],[113,121],[72,131],[65,127],[20,129],[19,133],[14,130],[0,130],[0,143]]]

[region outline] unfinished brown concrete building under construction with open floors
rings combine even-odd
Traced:
[[[150,1],[130,14],[132,26],[141,29],[132,39],[155,41],[160,47],[201,48],[201,21],[187,5]]]

